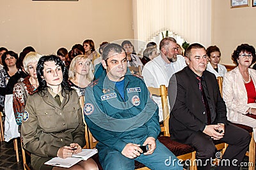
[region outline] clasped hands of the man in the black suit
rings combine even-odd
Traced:
[[[217,132],[217,131],[222,131]],[[224,124],[218,124],[218,125],[206,125],[205,129],[203,131],[205,134],[211,136],[212,139],[218,140],[223,138],[224,132],[225,132],[225,125]]]

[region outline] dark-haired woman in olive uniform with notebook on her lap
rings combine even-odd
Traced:
[[[33,169],[63,169],[44,165],[52,157],[65,159],[82,151],[84,124],[79,98],[68,86],[68,71],[56,55],[40,58],[36,67],[38,92],[28,97],[21,132],[31,152]],[[97,169],[93,159],[70,169]]]

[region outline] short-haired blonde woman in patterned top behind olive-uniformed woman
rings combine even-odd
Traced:
[[[42,55],[36,52],[29,52],[26,55],[23,60],[23,66],[29,76],[23,81],[16,83],[13,88],[13,111],[17,125],[19,125],[19,132],[28,96],[35,93],[38,87],[36,65],[40,57]]]

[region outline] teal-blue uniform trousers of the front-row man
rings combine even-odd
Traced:
[[[136,159],[129,159],[122,155],[122,153],[111,148],[104,148],[99,150],[99,161],[104,170],[134,170],[134,160],[141,162],[150,169],[175,169],[182,170],[179,166],[178,159],[173,155],[168,148],[156,140],[156,150],[151,155],[143,155]]]

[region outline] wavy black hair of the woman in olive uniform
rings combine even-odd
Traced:
[[[58,65],[61,67],[61,71],[63,73],[63,81],[61,82],[62,92],[70,92],[71,89],[68,85],[68,70],[65,67],[65,64],[61,61],[60,57],[58,57],[57,55],[44,55],[38,60],[38,64],[36,66],[36,74],[39,82],[38,92],[41,94],[41,96],[44,96],[44,91],[47,90],[47,83],[42,78],[44,77],[44,64],[47,61],[54,61],[56,66]]]

